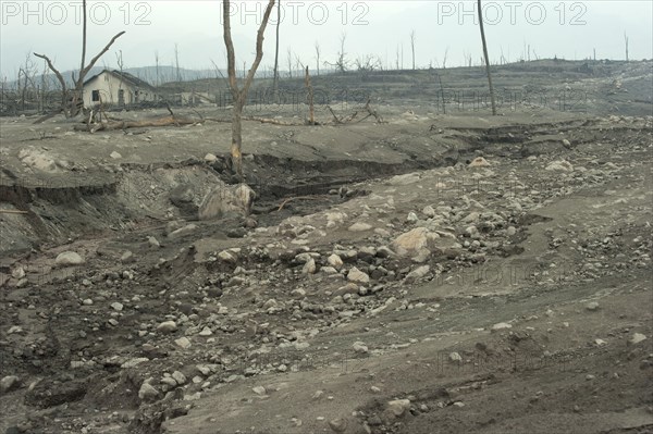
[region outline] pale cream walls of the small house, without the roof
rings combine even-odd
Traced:
[[[124,104],[141,101],[153,101],[156,95],[151,89],[139,89],[132,84],[120,79],[113,74],[102,73],[84,86],[84,107],[93,107],[100,101],[94,101],[94,91],[97,90],[104,104],[118,106],[119,92],[123,91]]]

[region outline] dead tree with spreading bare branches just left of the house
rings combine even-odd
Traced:
[[[46,62],[48,62],[48,67],[57,76],[57,79],[59,80],[59,84],[61,85],[61,92],[62,92],[61,109],[66,117],[74,117],[77,114],[79,114],[79,96],[84,91],[84,78],[86,77],[86,74],[88,74],[88,72],[93,69],[93,66],[95,66],[96,62],[98,60],[100,60],[100,58],[107,51],[109,51],[109,49],[111,48],[113,42],[115,42],[115,40],[118,38],[120,38],[121,36],[123,36],[125,34],[125,32],[121,32],[121,33],[116,34],[113,38],[111,38],[109,44],[107,44],[104,46],[104,48],[95,58],[93,58],[90,60],[88,65],[86,65],[86,22],[87,22],[86,0],[82,1],[82,17],[83,17],[83,22],[82,22],[82,63],[79,66],[79,74],[77,75],[77,78],[75,79],[75,77],[73,76],[73,83],[74,83],[75,87],[72,92],[73,95],[72,95],[72,98],[70,99],[70,101],[69,101],[69,89],[65,85],[65,80],[63,79],[63,76],[61,75],[59,70],[57,70],[57,67],[54,67],[54,64],[52,63],[50,58],[48,58],[45,54],[34,53],[34,55],[36,55],[37,58],[44,59]]]

